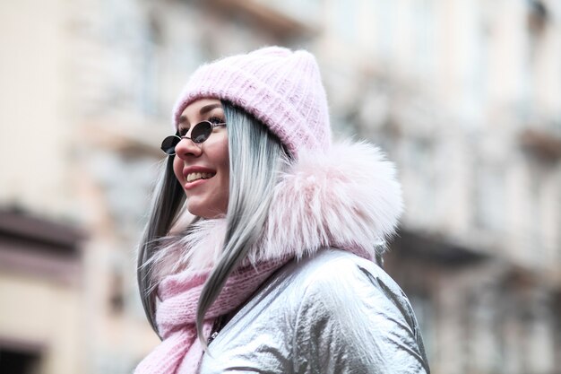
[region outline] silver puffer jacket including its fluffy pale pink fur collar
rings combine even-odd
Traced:
[[[375,146],[303,151],[274,187],[267,222],[248,252],[255,264],[299,260],[231,317],[201,372],[428,372],[409,301],[369,260],[382,254],[401,211],[393,164]],[[196,273],[220,257],[225,220],[201,220],[188,232],[160,250],[161,274],[177,264]]]

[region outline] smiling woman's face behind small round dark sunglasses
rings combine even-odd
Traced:
[[[191,137],[193,126],[202,121],[226,122],[220,100],[200,99],[189,104],[178,124],[180,135]],[[201,144],[183,139],[173,161],[176,178],[187,196],[187,210],[199,217],[224,216],[229,196],[229,153],[226,126],[215,126]]]

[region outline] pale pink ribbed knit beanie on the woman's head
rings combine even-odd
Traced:
[[[326,149],[331,128],[315,57],[305,50],[267,47],[200,66],[174,106],[174,123],[194,100],[229,100],[268,126],[289,152]],[[177,125],[176,125],[177,126]]]

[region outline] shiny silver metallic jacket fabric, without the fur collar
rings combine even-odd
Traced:
[[[333,249],[284,266],[209,353],[203,374],[429,372],[398,285],[374,263]]]

